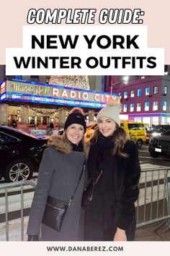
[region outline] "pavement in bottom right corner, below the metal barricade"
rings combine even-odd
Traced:
[[[170,241],[170,229],[164,232],[168,228],[167,225],[162,226],[156,231],[163,222],[156,222],[136,229],[135,241]]]

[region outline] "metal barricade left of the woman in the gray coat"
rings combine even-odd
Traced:
[[[5,197],[5,226],[6,226],[6,241],[9,241],[9,189],[11,191],[12,188],[14,187],[19,187],[19,192],[21,196],[20,200],[20,231],[21,231],[21,241],[24,241],[24,186],[31,186],[35,189],[36,183],[33,181],[23,181],[23,182],[13,182],[13,183],[8,183],[8,184],[0,184],[0,191],[4,193]]]

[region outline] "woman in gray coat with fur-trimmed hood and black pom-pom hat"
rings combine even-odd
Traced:
[[[27,227],[28,241],[80,241],[84,239],[84,221],[81,210],[81,196],[84,190],[84,169],[86,145],[84,133],[86,122],[80,108],[73,108],[64,126],[63,136],[52,135],[50,146],[45,149],[37,179]],[[66,212],[61,231],[42,223],[48,196],[73,202]],[[41,231],[41,232],[40,232]]]

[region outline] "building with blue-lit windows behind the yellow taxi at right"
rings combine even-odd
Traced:
[[[122,119],[154,124],[170,124],[170,76],[105,77],[105,91],[120,95]]]

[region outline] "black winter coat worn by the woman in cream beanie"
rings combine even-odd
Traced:
[[[102,176],[97,182],[91,209],[86,211],[86,234],[91,233],[88,227],[93,221],[101,230],[109,230],[112,239],[117,227],[128,231],[135,223],[135,205],[138,199],[138,182],[140,178],[140,164],[138,148],[131,140],[125,143],[123,152],[128,158],[112,155],[110,148],[104,148],[102,159]],[[89,150],[88,171],[93,179],[97,176],[97,161],[101,158],[99,145],[94,144]],[[101,162],[101,161],[100,161]],[[98,165],[99,166],[99,165]],[[91,218],[89,222],[89,218]],[[90,224],[89,224],[89,223]],[[93,227],[95,229],[95,225]],[[94,234],[99,230],[93,230]],[[95,237],[87,240],[99,240]]]

